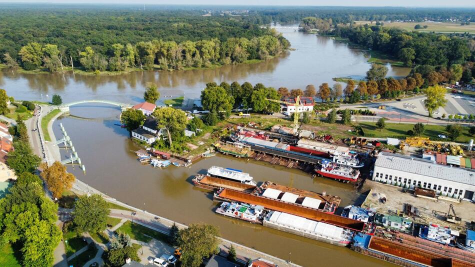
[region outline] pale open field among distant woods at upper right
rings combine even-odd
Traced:
[[[355,21],[356,24],[369,24],[370,21]],[[375,25],[375,21],[372,22]],[[414,26],[420,24],[422,28],[414,29]],[[424,25],[427,25],[427,28],[423,28]],[[469,32],[475,33],[475,23],[470,25],[460,25],[458,22],[384,22],[383,27],[397,27],[405,30],[415,30],[415,31],[425,31],[425,32]]]

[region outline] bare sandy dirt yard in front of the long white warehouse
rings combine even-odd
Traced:
[[[420,216],[412,217],[415,222],[424,224],[433,222],[449,226],[450,228],[456,228],[460,226],[468,227],[471,221],[475,221],[475,204],[468,201],[455,203],[447,200],[431,200],[416,197],[409,192],[403,193],[401,187],[387,185],[369,179],[365,181],[365,185],[371,188],[371,192],[366,198],[363,206],[376,208],[376,211],[379,213],[394,214],[396,210],[403,210],[404,203],[409,203],[416,207],[420,213]],[[379,201],[381,196],[386,197],[385,203]],[[447,212],[450,204],[453,204],[453,209],[457,216],[462,218],[462,223],[460,225],[446,222],[440,216],[435,218],[432,215],[432,210]]]

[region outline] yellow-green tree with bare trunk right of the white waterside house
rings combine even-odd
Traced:
[[[157,128],[166,129],[168,144],[170,148],[172,148],[171,133],[182,132],[184,130],[186,127],[186,113],[183,110],[173,107],[162,107],[155,109],[152,115],[156,118]]]

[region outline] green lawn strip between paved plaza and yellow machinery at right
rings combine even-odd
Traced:
[[[375,122],[360,122],[364,132],[372,133],[376,137],[402,137],[407,136],[407,131],[412,129],[414,124],[405,123],[386,123],[386,127],[382,130],[376,129]],[[446,134],[444,125],[424,125],[425,131],[422,137],[437,138],[438,134]],[[467,143],[473,137],[468,134],[468,127],[463,127],[462,133],[455,140],[460,143]],[[448,139],[447,139],[448,141]]]

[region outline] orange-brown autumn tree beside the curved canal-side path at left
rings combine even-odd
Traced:
[[[51,191],[53,197],[59,198],[65,189],[71,189],[76,177],[72,173],[66,171],[66,166],[59,161],[54,161],[51,166],[46,162],[40,166],[43,171],[41,177],[46,181],[48,190]]]

